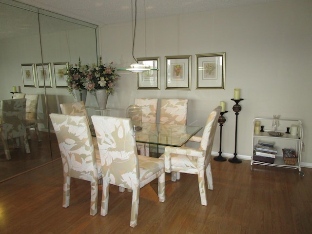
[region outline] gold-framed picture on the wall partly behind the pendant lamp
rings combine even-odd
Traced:
[[[159,90],[159,57],[137,58],[137,62],[151,69],[137,73],[137,89]]]

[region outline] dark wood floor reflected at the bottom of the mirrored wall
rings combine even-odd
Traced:
[[[52,160],[50,154],[49,134],[40,132],[42,141],[38,142],[35,131],[30,130],[31,140],[28,140],[30,154],[26,154],[21,142],[20,149],[13,149],[9,144],[11,160],[6,160],[3,144],[0,140],[0,181],[28,171]],[[59,145],[55,134],[51,133],[53,159],[60,157]]]

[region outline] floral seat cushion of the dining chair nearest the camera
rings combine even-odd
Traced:
[[[160,160],[159,158],[138,155],[138,160],[141,181],[158,173],[162,168],[165,167],[164,161]]]

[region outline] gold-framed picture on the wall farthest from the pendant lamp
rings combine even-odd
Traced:
[[[196,58],[196,90],[225,89],[225,53],[199,54]]]

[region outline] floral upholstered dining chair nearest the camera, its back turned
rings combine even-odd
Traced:
[[[109,185],[119,186],[119,191],[132,190],[130,226],[137,226],[140,188],[158,178],[158,197],[164,202],[164,161],[137,155],[134,131],[129,118],[92,116],[98,139],[103,173],[101,215],[108,213]],[[123,190],[120,190],[120,187]]]

